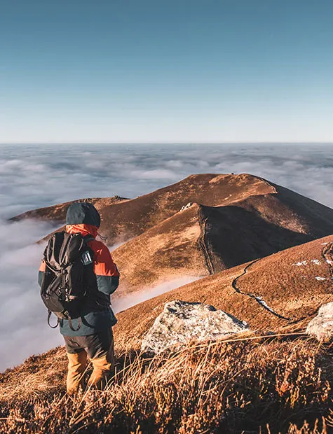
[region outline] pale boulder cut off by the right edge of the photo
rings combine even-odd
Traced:
[[[333,302],[322,304],[318,315],[308,323],[306,332],[318,341],[329,342],[333,339]]]

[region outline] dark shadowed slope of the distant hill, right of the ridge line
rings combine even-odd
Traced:
[[[201,207],[200,218],[212,273],[333,233],[332,209],[286,188]]]

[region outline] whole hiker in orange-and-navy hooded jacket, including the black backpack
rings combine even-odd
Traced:
[[[87,356],[93,364],[93,373],[88,380],[88,387],[102,388],[114,370],[112,326],[116,324],[117,320],[110,306],[110,295],[118,287],[119,273],[107,246],[95,239],[98,228],[100,228],[100,214],[93,204],[77,202],[70,205],[67,209],[66,231],[57,232],[53,235],[55,241],[53,240],[53,243],[50,242],[51,240],[49,241],[44,253],[44,260],[41,262],[39,269],[39,285],[41,286],[42,298],[44,297],[43,301],[49,309],[49,320],[51,310],[49,304],[47,304],[50,301],[50,292],[48,290],[50,290],[52,282],[55,281],[55,272],[57,271],[54,268],[57,266],[55,258],[70,254],[65,252],[64,255],[64,246],[69,248],[69,245],[73,245],[70,244],[73,239],[75,242],[76,239],[81,241],[81,246],[85,250],[82,255],[82,250],[79,250],[81,262],[79,261],[79,265],[71,262],[72,271],[66,272],[68,274],[72,273],[70,283],[74,291],[74,265],[80,269],[83,268],[83,279],[80,281],[81,283],[79,282],[79,286],[81,286],[79,291],[83,296],[81,298],[72,296],[72,300],[79,300],[79,314],[69,316],[69,307],[73,304],[71,297],[67,299],[67,301],[69,300],[67,303],[68,309],[63,309],[60,314],[57,313],[60,333],[64,337],[69,360],[67,373],[67,393],[69,394],[76,393],[83,386],[82,381],[86,370]],[[71,235],[75,235],[75,237]],[[57,239],[67,240],[67,244],[62,241],[62,246],[60,246],[62,248],[59,248]],[[50,250],[51,253],[49,253]],[[81,263],[83,263],[84,267]],[[50,279],[47,279],[48,274],[51,276]],[[60,288],[60,286],[57,283],[57,288]],[[57,303],[60,298],[62,297],[57,297],[55,302]],[[60,309],[55,310],[59,311]]]

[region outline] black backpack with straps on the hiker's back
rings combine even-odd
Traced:
[[[93,237],[83,237],[81,233],[68,234],[55,232],[48,240],[44,251],[46,270],[41,282],[41,299],[48,308],[48,325],[50,315],[69,320],[73,331],[81,327],[80,307],[87,294],[87,266],[93,267],[93,251],[87,242]],[[79,328],[74,329],[72,318],[79,318]]]

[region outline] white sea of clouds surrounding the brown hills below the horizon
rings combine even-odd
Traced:
[[[250,173],[333,207],[329,144],[0,146],[0,371],[62,344],[46,323],[36,279],[50,223],[8,218],[79,199],[137,197],[196,173]],[[118,300],[130,307],[188,281]]]

